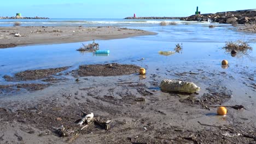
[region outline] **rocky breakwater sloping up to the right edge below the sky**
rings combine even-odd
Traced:
[[[256,9],[224,11],[216,14],[201,14],[183,17],[183,21],[212,21],[230,24],[255,24]]]

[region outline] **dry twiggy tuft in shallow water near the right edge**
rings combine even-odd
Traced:
[[[228,41],[226,42],[223,49],[226,52],[231,52],[232,50],[236,50],[237,52],[241,52],[243,54],[248,54],[248,50],[252,50],[252,47],[246,41],[237,40],[237,41]]]

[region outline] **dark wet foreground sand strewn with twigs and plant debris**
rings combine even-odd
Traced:
[[[114,73],[113,69],[116,66],[123,67],[126,71],[131,69],[130,71],[133,72],[114,71]],[[89,67],[93,67],[93,69],[89,68],[90,73],[98,73],[98,76],[72,77],[75,71],[60,73],[57,71],[48,76],[71,77],[57,83],[50,81],[51,86],[39,91],[28,89],[28,91],[7,93],[0,101],[0,141],[3,143],[253,143],[256,141],[255,117],[248,116],[248,110],[228,107],[228,116],[216,115],[216,106],[223,105],[230,99],[223,97],[223,94],[231,93],[222,87],[222,82],[218,80],[210,82],[211,80],[206,78],[205,83],[210,82],[210,85],[218,85],[218,87],[206,88],[207,92],[202,92],[200,97],[198,94],[161,92],[159,85],[162,75],[157,71],[164,69],[156,69],[154,74],[138,75],[138,69],[133,70],[139,68],[136,65],[96,64]],[[106,67],[107,69],[104,70],[106,74],[100,74],[100,69]],[[80,66],[78,70],[81,68],[86,68],[86,65]],[[173,73],[175,69],[168,69],[165,73],[193,81],[208,76],[218,79],[219,75],[225,75],[207,70]],[[33,71],[40,71],[32,75],[39,80],[45,79],[42,74],[49,73],[49,69],[44,69],[30,70],[29,73],[24,71],[19,74],[30,75]],[[109,72],[112,76],[107,76]],[[213,94],[214,100],[208,99],[207,94]],[[190,99],[192,96],[199,99]],[[181,103],[184,99],[188,100]],[[90,123],[84,129],[82,129],[84,125],[76,124],[83,117],[83,113],[90,112],[104,122],[111,120],[109,129],[106,130],[106,127],[96,122]]]

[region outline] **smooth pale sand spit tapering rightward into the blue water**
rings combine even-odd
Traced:
[[[15,37],[19,33],[21,37]],[[118,27],[1,27],[0,48],[34,44],[60,44],[99,39],[121,39],[154,32]]]

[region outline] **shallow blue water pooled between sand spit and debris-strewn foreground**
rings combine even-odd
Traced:
[[[119,25],[119,24],[118,24]],[[229,25],[209,28],[209,23],[190,23],[185,25],[129,25],[129,28],[157,32],[158,35],[146,35],[117,40],[96,40],[101,50],[110,50],[109,56],[95,56],[92,53],[76,51],[82,43],[20,46],[0,49],[0,85],[6,82],[2,76],[14,75],[27,69],[46,69],[72,66],[77,69],[81,64],[125,63],[136,64],[147,69],[147,75],[157,74],[161,79],[183,79],[193,81],[202,87],[202,93],[211,85],[225,86],[232,91],[230,103],[254,106],[256,100],[255,83],[256,51],[249,55],[232,57],[222,47],[225,41],[242,39],[251,41],[256,47],[256,34],[236,32]],[[117,26],[117,25],[115,25]],[[84,44],[91,41],[84,42]],[[173,51],[176,44],[183,45],[182,53],[170,56],[159,55],[158,51]],[[144,58],[144,59],[142,59]],[[223,59],[229,61],[228,68],[222,68]],[[204,73],[199,73],[203,70]],[[166,72],[170,71],[170,72]],[[175,73],[192,71],[196,76],[177,76]],[[225,72],[225,73],[224,73]],[[206,78],[204,78],[206,77]],[[249,78],[253,79],[250,80]],[[251,97],[251,98],[250,98]]]

